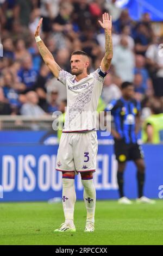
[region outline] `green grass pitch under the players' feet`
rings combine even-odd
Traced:
[[[118,205],[98,201],[96,230],[84,233],[86,210],[77,202],[76,233],[53,233],[64,222],[61,203],[0,203],[0,245],[163,245],[163,202]]]

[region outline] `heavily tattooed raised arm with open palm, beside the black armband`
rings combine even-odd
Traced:
[[[98,22],[105,31],[105,56],[102,59],[101,68],[103,71],[106,72],[110,68],[111,59],[112,59],[112,38],[111,38],[112,18],[110,16],[110,19],[109,19],[109,14],[104,13],[103,22],[101,21],[98,21]]]

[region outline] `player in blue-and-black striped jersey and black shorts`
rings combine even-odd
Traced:
[[[123,82],[122,97],[119,100],[112,100],[106,107],[106,111],[111,111],[114,116],[115,129],[111,129],[114,136],[114,150],[116,160],[118,161],[117,182],[119,187],[121,204],[131,204],[131,200],[124,196],[123,191],[123,173],[126,168],[126,162],[133,160],[137,167],[137,185],[138,198],[137,203],[154,203],[143,196],[143,186],[145,183],[145,162],[143,151],[137,144],[137,133],[140,126],[140,103],[134,96],[134,86],[131,82]]]

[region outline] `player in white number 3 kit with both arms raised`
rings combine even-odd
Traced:
[[[62,172],[62,203],[65,222],[54,231],[76,231],[73,222],[76,191],[74,176],[80,173],[84,187],[87,218],[85,231],[94,231],[96,191],[93,172],[96,170],[97,134],[92,115],[97,109],[104,77],[112,59],[111,16],[103,14],[99,24],[105,31],[105,55],[99,68],[87,74],[89,57],[83,51],[71,54],[71,74],[61,70],[39,36],[42,19],[37,26],[35,39],[40,54],[54,76],[66,86],[67,110],[61,135],[56,169]],[[82,120],[82,122],[81,122]]]

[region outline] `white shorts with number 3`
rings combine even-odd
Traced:
[[[56,170],[61,172],[95,172],[97,133],[62,133]]]

